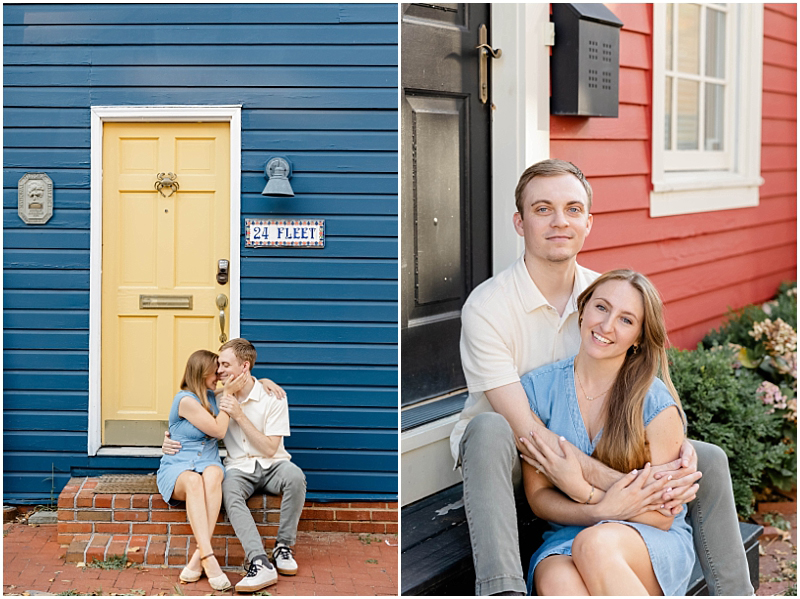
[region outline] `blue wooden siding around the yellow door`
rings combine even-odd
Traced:
[[[242,104],[242,219],[326,219],[324,250],[246,249],[241,334],[284,385],[309,498],[397,496],[397,6],[17,4],[4,21],[4,500],[88,457],[90,106]],[[297,196],[265,198],[284,155]],[[17,216],[53,179],[44,226]]]

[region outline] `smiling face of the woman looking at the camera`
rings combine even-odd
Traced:
[[[642,336],[644,301],[627,281],[611,279],[594,290],[581,322],[581,344],[596,359],[625,359]]]

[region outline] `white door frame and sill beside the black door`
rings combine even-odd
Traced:
[[[514,189],[531,164],[550,157],[550,5],[498,3],[492,8],[492,274],[522,253],[511,224]],[[402,505],[461,480],[453,470],[454,414],[400,435]]]

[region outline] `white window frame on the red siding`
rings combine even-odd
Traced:
[[[764,32],[762,4],[728,4],[726,71],[730,82],[722,153],[705,164],[686,168],[679,151],[664,149],[667,5],[653,6],[653,123],[650,216],[672,216],[758,206],[761,178],[761,77]],[[677,23],[673,24],[677,28]],[[701,108],[701,113],[703,109]],[[675,115],[673,115],[675,118]],[[683,152],[680,152],[683,153]],[[703,152],[686,152],[694,159]],[[702,159],[701,159],[702,160]],[[715,163],[716,161],[716,163]],[[683,166],[682,166],[683,165]],[[726,168],[727,166],[727,168]]]

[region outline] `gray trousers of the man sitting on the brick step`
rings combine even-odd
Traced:
[[[248,562],[257,555],[263,555],[265,550],[261,533],[247,507],[247,500],[255,493],[265,492],[282,495],[276,544],[283,543],[291,547],[297,540],[297,523],[306,501],[306,477],[303,471],[288,460],[275,462],[266,470],[256,462],[252,474],[235,468],[225,471],[222,501]]]

